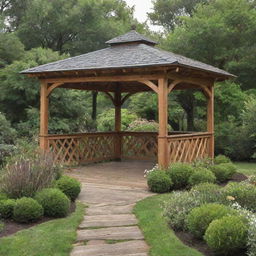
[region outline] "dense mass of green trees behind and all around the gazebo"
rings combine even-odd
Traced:
[[[105,47],[130,30],[159,46],[237,75],[216,84],[216,153],[255,157],[256,1],[154,0],[148,14],[163,32],[152,32],[123,0],[0,0],[0,144],[38,132],[39,84],[19,71]],[[169,98],[173,130],[204,130],[206,102],[199,92]],[[136,119],[157,120],[157,98],[134,95],[124,108],[123,128]],[[113,106],[101,93],[56,89],[50,99],[50,132],[110,130]],[[149,125],[150,126],[150,125]],[[150,126],[151,127],[151,126]],[[154,126],[154,127],[157,127]],[[146,127],[148,129],[148,127]]]

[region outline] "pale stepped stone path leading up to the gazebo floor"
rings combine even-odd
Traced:
[[[143,171],[144,167],[138,169]],[[79,173],[81,175],[81,170]],[[77,173],[70,175],[76,176]],[[107,176],[107,172],[104,175]],[[77,231],[77,242],[71,256],[147,256],[149,247],[132,213],[137,201],[152,195],[146,189],[145,179],[141,179],[140,173],[136,180],[139,186],[132,182],[125,186],[118,182],[122,184],[120,186],[114,182],[104,184],[104,175],[94,183],[91,179],[87,183],[85,177],[80,177],[82,192],[79,200],[88,208]]]

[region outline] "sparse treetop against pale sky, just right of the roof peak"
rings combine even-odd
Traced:
[[[210,0],[154,0],[153,12],[148,16],[153,24],[163,26],[167,31],[180,25],[181,16],[191,16],[199,3]]]

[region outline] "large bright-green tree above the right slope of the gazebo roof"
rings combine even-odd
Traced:
[[[249,0],[197,5],[192,17],[170,33],[168,50],[238,74],[243,89],[255,85],[256,9]]]

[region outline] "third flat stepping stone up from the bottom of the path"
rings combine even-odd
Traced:
[[[138,221],[133,214],[96,215],[85,216],[84,221],[79,225],[79,228],[119,227],[136,224],[138,224]]]

